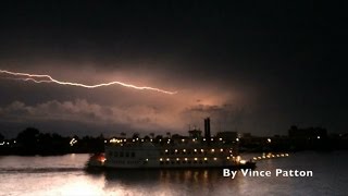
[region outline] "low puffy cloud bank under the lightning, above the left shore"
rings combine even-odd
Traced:
[[[96,133],[108,133],[112,126],[125,126],[127,131],[147,131],[153,128],[171,130],[169,124],[163,124],[161,119],[162,112],[158,111],[154,107],[147,106],[129,106],[129,107],[108,107],[98,103],[90,103],[84,99],[76,99],[74,101],[57,101],[50,100],[38,105],[26,105],[21,101],[13,101],[9,106],[0,108],[1,123],[18,123],[30,124],[33,122],[41,125],[51,123],[52,126],[61,126],[59,123],[65,122],[66,124],[87,124],[92,127],[87,128],[85,132],[96,135]],[[109,128],[105,128],[108,127]],[[78,126],[77,126],[78,127]],[[101,130],[104,128],[104,130]],[[177,127],[175,127],[177,128]],[[49,130],[58,130],[52,127]],[[66,127],[66,131],[78,133],[82,130],[74,130]],[[116,131],[116,130],[113,130]],[[119,130],[120,131],[120,130]],[[121,131],[120,131],[121,132]]]

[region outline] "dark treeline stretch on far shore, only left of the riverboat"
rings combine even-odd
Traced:
[[[40,133],[37,128],[27,127],[13,139],[5,139],[0,134],[0,155],[64,155],[103,151],[104,138],[78,136],[64,137],[57,133]]]

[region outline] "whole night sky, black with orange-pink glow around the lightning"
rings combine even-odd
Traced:
[[[0,133],[287,134],[347,132],[347,35],[340,4],[319,1],[3,1]]]

